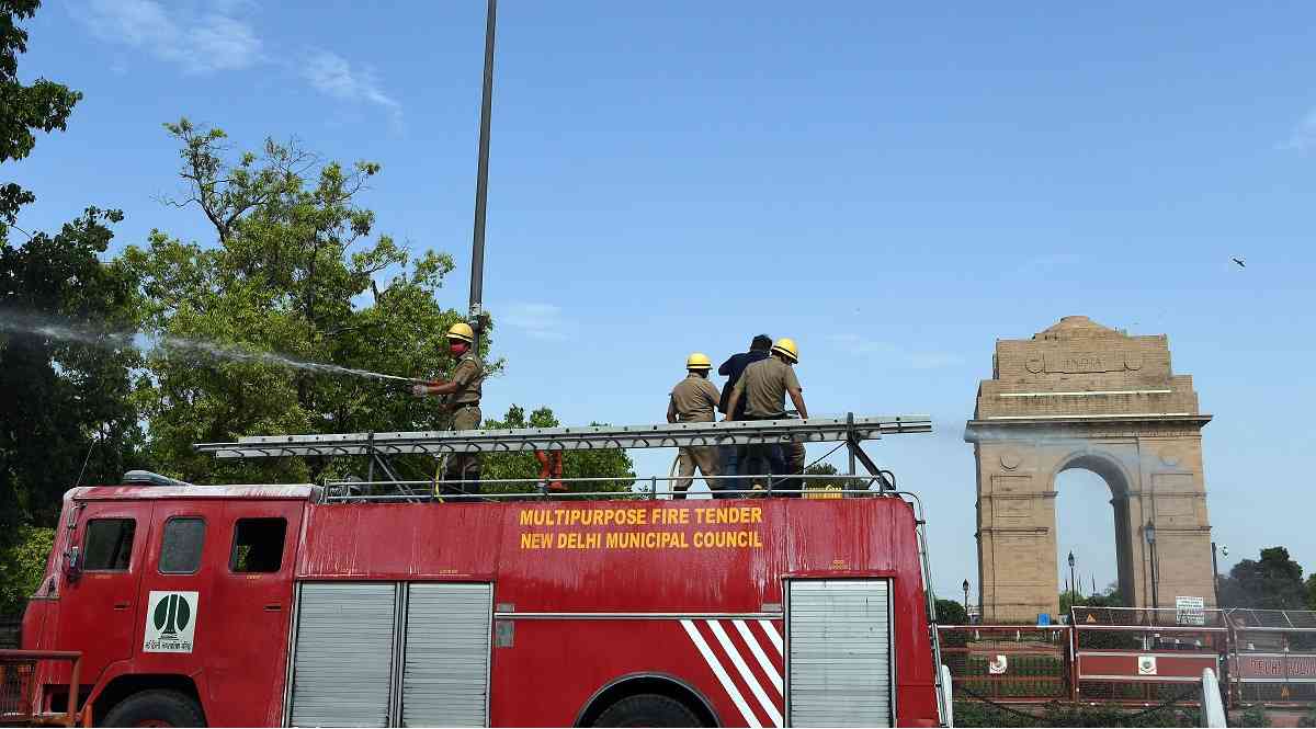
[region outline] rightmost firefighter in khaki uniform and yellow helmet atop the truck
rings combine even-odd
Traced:
[[[745,400],[744,420],[783,420],[786,417],[786,396],[791,396],[795,409],[801,418],[809,417],[809,411],[804,405],[804,392],[800,380],[795,376],[794,364],[800,361],[800,350],[795,346],[795,339],[782,337],[772,345],[772,355],[745,367],[732,397],[726,403],[726,412],[736,413],[736,405]],[[734,415],[728,415],[726,420],[733,420]],[[792,447],[792,461],[803,459],[800,449]],[[769,471],[775,474],[790,472],[794,465],[787,465],[782,447],[776,445],[749,446],[746,453],[749,465],[754,470],[742,471],[745,475],[762,474],[762,462],[767,461]],[[799,488],[799,483],[792,479],[791,488]]]

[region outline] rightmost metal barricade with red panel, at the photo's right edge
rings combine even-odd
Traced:
[[[1316,612],[1225,611],[1229,690],[1246,704],[1316,703]]]

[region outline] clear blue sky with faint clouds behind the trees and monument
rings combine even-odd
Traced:
[[[125,211],[120,245],[209,241],[157,201],[186,114],[382,163],[378,230],[453,253],[465,307],[483,3],[68,0],[28,28],[21,72],[86,99],[8,166],[38,195],[25,229],[96,204]],[[509,364],[486,412],[655,421],[690,351],[792,336],[813,413],[933,416],[871,453],[924,496],[957,596],[994,341],[1087,314],[1169,334],[1194,375],[1225,562],[1283,543],[1313,568],[1312,49],[1303,3],[504,0],[484,291]],[[1108,492],[1059,490],[1061,553],[1104,586]]]

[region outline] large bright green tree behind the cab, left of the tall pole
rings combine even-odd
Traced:
[[[200,209],[216,241],[184,243],[153,232],[149,247],[124,254],[141,279],[146,330],[161,345],[137,392],[159,467],[183,479],[315,480],[345,475],[346,465],[216,462],[192,443],[446,428],[436,399],[299,364],[421,378],[453,366],[445,332],[462,317],[436,300],[453,261],[438,253],[413,258],[388,236],[371,238],[375,216],[357,197],[380,167],[320,164],[295,143],[272,139],[261,154],[230,161],[220,129],[186,118],[166,129],[179,142],[186,184],[170,203]],[[487,334],[482,346],[487,353]],[[400,461],[408,476],[429,478],[428,459]]]

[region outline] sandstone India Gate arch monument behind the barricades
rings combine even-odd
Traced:
[[[1129,336],[1067,316],[1030,339],[998,339],[965,440],[978,462],[983,622],[1058,611],[1055,479],[1087,468],[1111,488],[1128,605],[1215,605],[1202,428],[1192,376],[1165,334]],[[1153,559],[1154,557],[1154,559]]]

